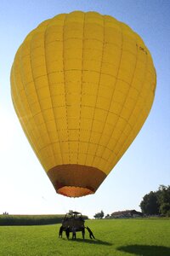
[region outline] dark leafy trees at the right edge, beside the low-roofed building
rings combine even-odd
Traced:
[[[156,191],[144,195],[139,207],[144,215],[170,217],[170,186],[160,185]]]

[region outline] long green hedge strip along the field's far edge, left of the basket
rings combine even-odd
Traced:
[[[59,224],[65,215],[0,215],[1,226]]]

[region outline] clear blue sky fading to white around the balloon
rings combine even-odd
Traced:
[[[150,49],[157,73],[149,118],[95,195],[57,195],[14,113],[10,69],[20,44],[43,20],[73,10],[94,10],[131,26]],[[0,214],[81,211],[89,217],[140,210],[142,197],[170,184],[170,1],[14,0],[0,2]]]

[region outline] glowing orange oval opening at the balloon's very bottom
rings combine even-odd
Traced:
[[[88,188],[64,186],[57,189],[57,193],[68,197],[80,197],[84,195],[94,194],[94,191]]]

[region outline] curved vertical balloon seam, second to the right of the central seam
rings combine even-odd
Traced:
[[[119,23],[119,26],[120,26],[120,23]],[[121,32],[122,32],[122,26],[121,26]],[[123,45],[123,34],[122,34],[122,45]],[[121,45],[121,49],[122,49],[122,45]],[[106,117],[105,117],[105,124],[106,124],[108,115],[109,115],[109,113],[110,113],[111,102],[112,102],[113,96],[114,96],[115,91],[116,91],[116,83],[117,83],[117,78],[118,78],[119,70],[120,70],[120,67],[121,67],[121,61],[122,61],[122,50],[121,50],[121,54],[120,54],[120,61],[119,61],[118,67],[117,67],[116,81],[115,81],[115,83],[114,83],[114,85],[113,85],[113,86],[114,86],[114,90],[112,90],[110,105],[109,105],[109,107],[108,107],[107,114],[106,114]],[[100,143],[100,141],[101,141],[101,138],[102,138],[102,135],[103,135],[103,131],[105,130],[105,124],[103,125],[103,129],[102,129],[102,131],[101,131],[101,136],[100,136],[100,138],[99,138],[99,143]],[[116,121],[116,124],[117,124],[117,121]],[[115,125],[115,126],[116,126],[116,125]],[[98,145],[98,148],[99,148],[99,145]],[[94,158],[96,157],[96,153],[97,153],[97,151],[98,151],[98,148],[96,148],[96,150],[95,150]],[[94,162],[94,160],[93,160],[93,162]],[[99,160],[99,163],[100,163],[100,160]],[[99,163],[98,163],[98,166],[99,166]]]

